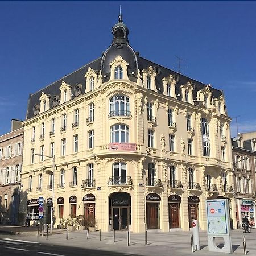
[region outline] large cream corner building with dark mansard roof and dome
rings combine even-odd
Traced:
[[[56,224],[84,214],[102,231],[189,230],[195,219],[205,230],[208,197],[228,197],[235,218],[222,92],[140,57],[121,15],[112,33],[102,57],[30,96],[27,210],[37,218],[36,198],[54,188]],[[55,157],[53,173],[35,154]]]

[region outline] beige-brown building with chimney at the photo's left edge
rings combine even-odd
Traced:
[[[23,221],[18,216],[24,131],[21,122],[13,119],[10,133],[0,136],[0,223],[3,224]]]

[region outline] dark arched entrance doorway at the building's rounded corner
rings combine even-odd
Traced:
[[[109,196],[109,225],[111,229],[127,230],[131,224],[131,196],[114,192]]]

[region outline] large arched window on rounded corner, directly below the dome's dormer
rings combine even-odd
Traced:
[[[120,115],[131,115],[129,97],[125,95],[115,95],[109,100],[109,117]]]

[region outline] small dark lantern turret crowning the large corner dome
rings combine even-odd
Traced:
[[[129,34],[129,29],[126,27],[125,24],[123,24],[122,20],[122,14],[119,14],[118,16],[118,23],[114,25],[112,28],[112,34],[114,36],[112,40],[112,46],[113,44],[129,44],[128,40],[128,34]]]

